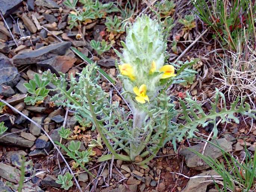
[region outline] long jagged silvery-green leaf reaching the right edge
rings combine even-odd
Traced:
[[[219,109],[218,103],[220,98],[223,106],[220,111],[217,112],[217,109]],[[175,137],[174,140],[176,138],[181,140],[186,132],[188,133],[188,138],[191,138],[194,136],[194,131],[198,131],[197,127],[199,125],[206,127],[209,123],[213,124],[213,137],[216,137],[218,134],[216,118],[221,119],[220,123],[230,123],[231,120],[235,123],[239,123],[239,119],[235,117],[235,114],[238,113],[256,119],[254,114],[255,111],[251,110],[250,105],[244,101],[245,97],[242,100],[240,100],[240,97],[237,97],[228,109],[225,96],[216,89],[215,102],[211,103],[212,109],[206,114],[201,104],[198,103],[197,100],[193,100],[187,93],[185,100],[179,99],[179,102],[181,103],[181,109],[179,111],[181,117],[179,118],[183,119],[184,123],[178,125],[178,132],[173,135]]]

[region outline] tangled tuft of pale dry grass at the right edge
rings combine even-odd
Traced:
[[[252,97],[256,97],[256,56],[255,51],[240,49],[237,53],[227,52],[218,59],[222,64],[221,77],[216,78],[222,88],[228,91],[229,100],[235,97],[248,97],[255,109]]]

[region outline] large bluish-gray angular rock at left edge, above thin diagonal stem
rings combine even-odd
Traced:
[[[0,85],[5,84],[10,87],[15,86],[20,77],[17,67],[13,66],[9,59],[4,58],[0,58],[0,66]]]

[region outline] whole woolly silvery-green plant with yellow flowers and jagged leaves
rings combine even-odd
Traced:
[[[100,77],[96,63],[86,66],[78,74],[78,81],[73,77],[67,81],[62,73],[59,73],[60,77],[50,71],[43,74],[43,80],[50,81],[59,91],[52,98],[55,104],[68,106],[80,124],[92,124],[92,129],[98,131],[111,153],[98,161],[110,160],[114,156],[115,159],[145,165],[166,142],[172,140],[176,149],[176,140],[194,136],[198,126],[213,124],[216,136],[216,117],[222,122],[235,120],[236,123],[239,121],[234,113],[255,117],[243,99],[238,98],[227,109],[225,97],[218,90],[216,102],[208,112],[204,112],[201,104],[189,95],[179,100],[178,110],[174,109],[166,90],[171,84],[184,83],[184,79],[195,75],[191,65],[197,61],[178,62],[178,65],[167,62],[167,36],[172,26],[164,28],[163,23],[142,15],[127,27],[122,54],[115,50],[120,58],[116,66],[123,83],[122,94],[131,111],[111,103],[108,94],[98,85]],[[216,112],[219,96],[223,106]],[[176,123],[177,117],[180,123]]]

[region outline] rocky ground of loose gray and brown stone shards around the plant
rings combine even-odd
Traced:
[[[76,47],[84,55],[98,61],[98,65],[104,69],[112,78],[117,76],[114,61],[116,55],[111,49],[105,53],[104,58],[96,57],[89,41],[92,39],[102,40],[108,38],[103,21],[95,21],[83,26],[85,40],[77,40],[77,30],[70,30],[67,25],[68,14],[70,12],[63,6],[62,0],[1,0],[0,11],[0,98],[14,106],[25,116],[43,127],[53,141],[60,141],[58,130],[66,124],[74,131],[74,140],[82,141],[80,149],[86,149],[91,139],[97,138],[96,131],[80,130],[77,134],[78,123],[73,114],[65,108],[57,108],[49,98],[43,103],[35,106],[25,105],[24,99],[28,96],[24,83],[34,78],[35,74],[41,77],[43,71],[50,69],[52,72],[67,73],[67,78],[75,72],[80,72],[86,65],[70,49]],[[143,8],[143,3],[142,3]],[[3,19],[4,18],[4,19]],[[174,34],[178,31],[174,29]],[[202,30],[202,29],[198,29]],[[194,31],[192,38],[198,36],[198,31]],[[114,47],[120,48],[120,40],[125,38],[125,34],[119,35],[115,40]],[[205,41],[207,39],[207,35]],[[206,40],[207,41],[207,40]],[[211,43],[211,42],[210,42]],[[181,43],[183,50],[188,44]],[[218,74],[218,69],[212,64],[211,55],[207,55],[213,49],[211,44],[196,43],[191,52],[183,56],[183,60],[191,59],[197,55],[201,59],[194,66],[198,71],[197,79],[190,86],[178,85],[172,87],[172,94],[175,97],[182,97],[185,91],[189,91],[198,100],[206,100],[213,96],[218,81],[213,75]],[[192,53],[195,52],[195,53]],[[179,54],[179,53],[178,53]],[[170,61],[178,55],[171,53]],[[121,98],[113,91],[111,85],[104,78],[100,81],[106,92],[111,92],[114,102],[124,105]],[[117,85],[120,82],[117,80]],[[120,87],[120,86],[117,86]],[[49,84],[49,88],[54,88]],[[50,92],[50,95],[53,94]],[[210,109],[209,103],[205,103],[205,108]],[[28,121],[24,116],[18,114],[9,107],[4,108],[0,115],[0,121],[4,121],[8,127],[6,133],[0,136],[0,192],[13,192],[15,187],[6,186],[6,182],[11,182],[13,186],[18,184],[21,165],[21,156],[26,160],[32,160],[31,171],[26,174],[24,192],[57,192],[65,191],[60,189],[56,178],[60,172],[67,170],[66,164],[53,148],[49,137],[44,134],[38,126]],[[255,151],[256,128],[247,124],[233,124],[233,126],[219,126],[221,134],[216,141],[227,152],[234,152],[238,155],[244,151],[244,145],[250,152]],[[211,127],[201,129],[200,133],[209,135]],[[198,136],[201,137],[201,134]],[[246,143],[243,139],[246,138]],[[207,138],[206,138],[207,139]],[[199,143],[198,143],[199,142]],[[66,146],[69,141],[62,140]],[[108,161],[102,164],[97,162],[104,150],[94,148],[96,156],[87,165],[87,168],[97,175],[93,180],[83,170],[75,170],[79,185],[84,191],[102,192],[144,192],[144,191],[170,191],[170,192],[216,192],[214,185],[209,185],[205,178],[188,179],[176,173],[181,173],[191,177],[199,175],[215,174],[205,164],[199,162],[200,158],[187,150],[185,147],[201,152],[204,143],[198,139],[185,139],[178,143],[178,151],[173,151],[172,144],[167,143],[161,149],[148,169],[127,164],[122,161]],[[64,151],[62,151],[65,155]],[[221,158],[222,153],[212,145],[207,145],[205,155],[213,158]],[[66,158],[70,165],[72,160]],[[69,191],[78,191],[73,186]]]

